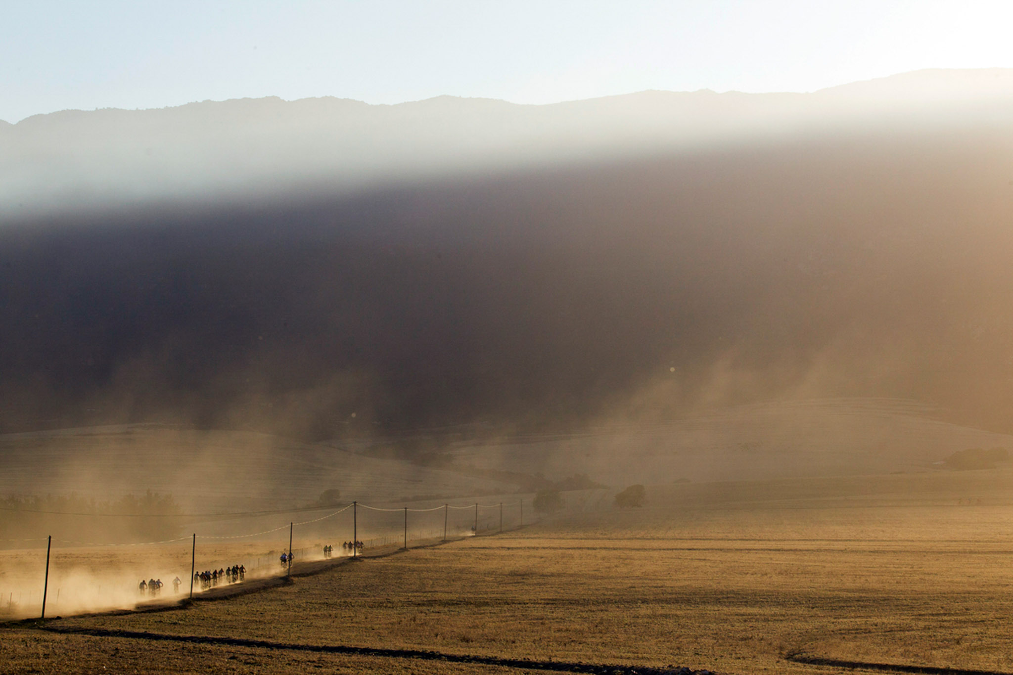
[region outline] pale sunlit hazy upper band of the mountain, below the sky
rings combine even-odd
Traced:
[[[1011,112],[1010,70],[920,71],[812,94],[645,91],[552,105],[271,97],[65,110],[0,136],[0,218],[294,189],[347,194],[390,180],[655,156],[869,122],[990,123]]]

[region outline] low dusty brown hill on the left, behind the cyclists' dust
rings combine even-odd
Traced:
[[[369,503],[514,492],[504,483],[249,431],[160,425],[0,435],[0,495],[110,500],[152,490],[184,511],[304,507],[324,490]]]

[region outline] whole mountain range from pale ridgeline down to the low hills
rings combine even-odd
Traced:
[[[417,438],[874,396],[1013,430],[1009,75],[929,105],[960,80],[934,77],[22,120],[0,428]]]

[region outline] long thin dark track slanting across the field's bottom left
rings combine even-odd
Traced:
[[[610,664],[575,663],[568,661],[538,661],[535,659],[508,659],[494,656],[473,656],[451,654],[430,650],[399,650],[380,647],[349,647],[346,645],[306,645],[300,643],[279,643],[268,640],[245,638],[216,638],[211,636],[174,636],[146,630],[121,630],[112,628],[88,628],[79,626],[38,626],[41,630],[62,635],[90,636],[93,638],[122,638],[127,640],[167,641],[198,645],[220,645],[224,647],[246,647],[265,650],[288,650],[296,652],[320,652],[326,654],[348,654],[354,656],[382,657],[388,659],[418,659],[422,661],[446,661],[450,663],[470,663],[483,666],[505,666],[526,670],[546,670],[568,673],[590,673],[591,675],[713,675],[709,670],[690,668],[654,668],[651,666],[621,666]]]

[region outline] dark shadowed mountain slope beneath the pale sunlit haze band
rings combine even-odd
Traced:
[[[8,219],[0,425],[488,435],[878,396],[1008,431],[1013,117],[989,105]]]

